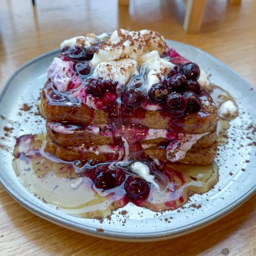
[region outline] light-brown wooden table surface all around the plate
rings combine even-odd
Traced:
[[[240,6],[208,1],[201,33],[182,29],[182,1],[3,0],[0,8],[0,89],[11,74],[60,42],[116,28],[159,31],[165,38],[199,47],[225,62],[256,88],[256,1]],[[129,14],[130,13],[130,14]],[[18,84],[17,84],[18,86]],[[193,234],[154,243],[125,243],[85,236],[36,217],[0,188],[1,255],[256,255],[256,195],[231,214]],[[227,248],[227,249],[224,249]],[[224,249],[224,250],[223,250]]]

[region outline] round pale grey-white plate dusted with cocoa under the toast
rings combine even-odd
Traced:
[[[217,221],[250,198],[256,190],[256,147],[250,145],[252,141],[248,137],[255,142],[256,134],[245,128],[251,123],[255,127],[256,90],[206,52],[176,41],[167,40],[167,44],[198,63],[211,75],[209,80],[227,90],[239,106],[240,116],[231,121],[228,131],[229,143],[220,147],[217,157],[219,183],[208,193],[191,197],[192,202],[195,200],[202,205],[200,209],[185,205],[180,212],[166,211],[156,216],[153,211],[128,204],[122,209],[127,210],[129,218],[114,212],[111,221],[100,223],[94,219],[63,214],[32,196],[20,184],[12,168],[14,137],[41,133],[45,130],[45,123],[35,122],[41,119],[39,116],[29,112],[22,112],[20,116],[18,112],[24,103],[36,102],[46,81],[47,68],[53,57],[58,55],[58,50],[41,55],[20,68],[7,82],[0,96],[0,114],[5,117],[0,117],[0,137],[4,137],[0,142],[0,181],[8,193],[34,214],[57,225],[91,236],[123,241],[156,241],[182,236]],[[36,112],[36,107],[31,111]],[[4,126],[14,127],[9,137],[5,136]],[[169,217],[173,218],[170,223],[164,221]],[[126,222],[122,225],[124,220]],[[104,231],[99,232],[98,228]]]

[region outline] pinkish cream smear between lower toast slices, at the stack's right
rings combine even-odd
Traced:
[[[176,162],[183,159],[190,148],[207,133],[202,134],[186,134],[182,140],[177,142],[170,141],[166,147],[166,157],[171,162]]]

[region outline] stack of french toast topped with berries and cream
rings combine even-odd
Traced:
[[[46,151],[65,161],[209,164],[217,108],[199,77],[157,32],[64,41],[42,91]]]

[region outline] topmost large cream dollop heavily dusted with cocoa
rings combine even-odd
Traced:
[[[157,50],[161,55],[166,49],[164,38],[150,30],[115,30],[94,54],[91,65],[95,67],[107,60],[132,58],[137,60],[148,51]]]

